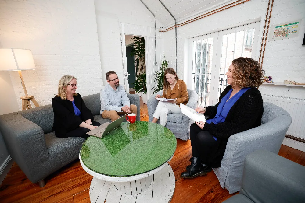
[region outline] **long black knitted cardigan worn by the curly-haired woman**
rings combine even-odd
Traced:
[[[214,118],[217,114],[217,107],[228,91],[231,89],[229,85],[221,93],[220,99],[215,106],[206,107],[206,115]],[[248,89],[243,95],[233,104],[225,121],[223,123],[211,124],[205,123],[203,126],[204,131],[209,131],[211,135],[217,137],[219,142],[218,149],[214,156],[210,157],[211,167],[217,168],[221,166],[221,160],[227,146],[228,139],[231,135],[249,130],[261,125],[263,116],[263,98],[260,91],[256,88]]]

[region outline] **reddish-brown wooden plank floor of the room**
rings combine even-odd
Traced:
[[[141,104],[141,121],[148,121],[146,104]],[[305,166],[305,152],[282,145],[279,153],[289,160]],[[169,162],[174,170],[176,187],[171,202],[222,202],[234,194],[220,187],[212,171],[206,176],[180,178],[192,156],[191,142],[177,139],[177,149]],[[70,163],[46,179],[45,187],[31,183],[14,163],[0,185],[0,202],[90,202],[89,187],[92,176],[86,173],[79,160]],[[236,193],[235,193],[236,194]]]

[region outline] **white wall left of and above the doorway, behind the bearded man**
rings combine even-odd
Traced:
[[[107,84],[105,73],[109,70],[116,71],[120,77],[120,85],[124,85],[120,23],[153,28],[154,17],[139,0],[116,0],[107,3],[95,0],[95,13],[104,85]],[[160,22],[156,20],[157,29],[160,26]]]

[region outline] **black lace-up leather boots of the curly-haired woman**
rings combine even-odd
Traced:
[[[190,161],[191,165],[187,166],[186,171],[181,173],[183,178],[193,178],[198,175],[203,176],[212,170],[210,166],[203,166],[199,157],[192,157]]]

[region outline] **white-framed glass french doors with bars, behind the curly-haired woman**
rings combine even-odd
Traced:
[[[198,94],[198,106],[216,104],[228,86],[225,73],[232,60],[256,58],[260,22],[190,39],[188,86]]]

